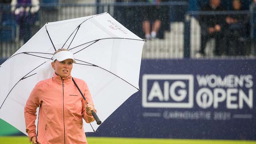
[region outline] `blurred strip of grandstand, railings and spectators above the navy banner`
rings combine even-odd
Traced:
[[[109,12],[148,40],[143,58],[252,57],[256,0],[0,0],[0,58],[44,24]]]

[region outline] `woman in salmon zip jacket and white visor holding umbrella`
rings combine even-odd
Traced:
[[[70,51],[57,50],[51,63],[53,77],[38,82],[32,90],[24,108],[26,132],[32,144],[87,144],[82,118],[87,123],[94,121],[94,104],[83,80],[74,78],[86,101],[74,85],[70,74],[73,63],[76,61]],[[37,136],[35,120],[39,106]]]

